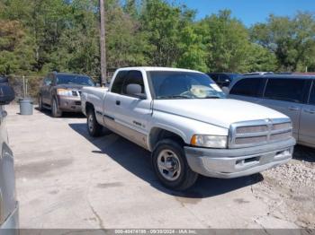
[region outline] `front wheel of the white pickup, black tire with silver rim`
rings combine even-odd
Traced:
[[[183,146],[171,139],[157,143],[152,152],[152,165],[160,182],[173,190],[184,191],[198,178],[198,173],[186,161]]]

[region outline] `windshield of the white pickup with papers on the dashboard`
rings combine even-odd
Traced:
[[[154,95],[157,100],[221,99],[226,95],[206,74],[178,71],[150,71]]]

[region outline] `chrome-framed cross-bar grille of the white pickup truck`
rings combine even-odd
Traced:
[[[250,147],[289,139],[292,124],[288,118],[234,123],[229,128],[229,148]]]

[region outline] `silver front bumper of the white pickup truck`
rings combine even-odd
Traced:
[[[207,177],[238,178],[274,168],[292,159],[294,138],[242,149],[184,147],[190,168]]]

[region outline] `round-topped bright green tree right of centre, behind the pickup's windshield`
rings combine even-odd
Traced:
[[[249,51],[245,26],[230,11],[212,14],[201,22],[207,29],[207,66],[211,72],[246,72]]]

